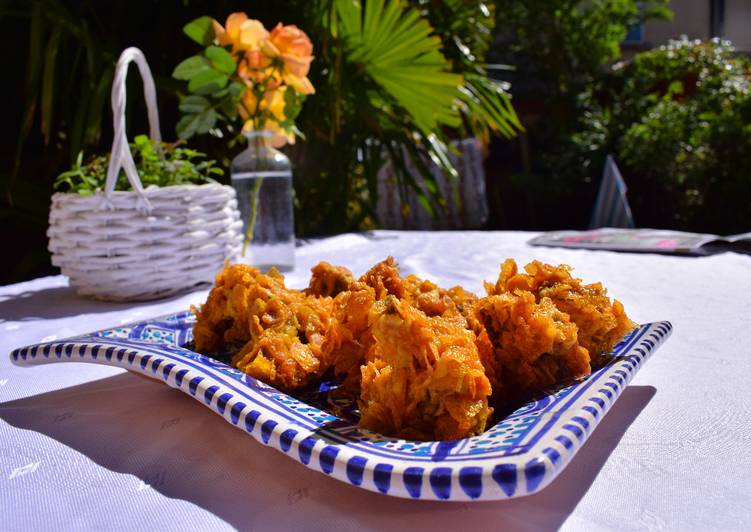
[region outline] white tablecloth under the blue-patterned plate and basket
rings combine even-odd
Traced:
[[[751,529],[751,257],[533,248],[511,232],[379,231],[297,250],[288,285],[319,260],[482,292],[506,257],[566,262],[639,322],[670,320],[650,359],[566,470],[503,502],[389,498],[308,470],[192,398],[105,366],[16,368],[11,349],[200,303],[78,298],[62,277],[0,287],[0,529]]]

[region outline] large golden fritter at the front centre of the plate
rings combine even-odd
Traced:
[[[369,319],[375,342],[362,368],[362,427],[418,440],[485,430],[490,382],[462,321],[427,316],[395,296],[377,302]]]

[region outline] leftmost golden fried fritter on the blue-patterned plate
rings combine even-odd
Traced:
[[[242,343],[233,366],[281,390],[295,390],[327,367],[323,344],[332,311],[331,298],[286,288],[273,268],[263,274],[246,265],[229,266],[196,312],[196,350],[213,354]]]

